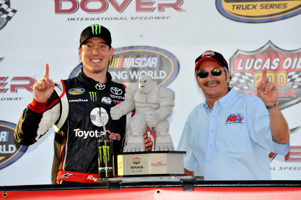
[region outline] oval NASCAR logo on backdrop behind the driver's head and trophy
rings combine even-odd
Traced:
[[[77,76],[82,64],[79,64],[69,78]],[[179,61],[170,52],[156,47],[123,47],[114,49],[108,72],[112,81],[130,84],[138,82],[140,75],[148,75],[153,82],[166,87],[179,73]]]

